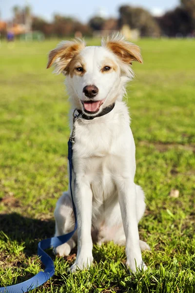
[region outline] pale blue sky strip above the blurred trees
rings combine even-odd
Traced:
[[[109,17],[117,17],[118,7],[122,4],[142,6],[150,11],[160,13],[176,7],[179,0],[0,0],[0,17],[2,20],[9,20],[12,16],[11,8],[14,5],[23,6],[30,4],[35,15],[39,15],[46,20],[51,20],[54,13],[87,22],[90,17],[97,13]]]

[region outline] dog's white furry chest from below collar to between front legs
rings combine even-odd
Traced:
[[[129,118],[124,116],[115,114],[112,119],[98,119],[98,123],[76,123],[74,173],[81,185],[92,188],[94,214],[117,200],[116,182],[124,172],[125,176],[130,174],[130,154],[135,146]]]

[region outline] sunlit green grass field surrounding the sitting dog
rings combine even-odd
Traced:
[[[43,269],[37,245],[54,234],[55,204],[68,185],[68,97],[63,76],[45,69],[57,42],[0,46],[1,286]],[[94,266],[74,274],[66,271],[76,250],[68,258],[49,251],[56,272],[36,293],[195,293],[195,41],[138,44],[144,63],[134,63],[127,89],[136,183],[146,194],[139,234],[152,249],[142,253],[148,270],[129,275],[124,247],[113,243],[94,246]]]

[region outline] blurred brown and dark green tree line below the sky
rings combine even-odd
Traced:
[[[14,21],[21,23],[25,14],[30,13],[29,7],[13,8]],[[123,25],[131,29],[138,29],[142,37],[176,37],[195,35],[195,0],[181,0],[180,5],[167,11],[160,17],[154,17],[149,11],[141,7],[130,5],[120,6],[119,18],[105,19],[94,16],[88,23],[82,23],[72,17],[54,15],[53,21],[45,21],[38,16],[32,16],[32,30],[41,31],[45,37],[71,37],[77,33],[92,36],[94,31],[119,30]]]

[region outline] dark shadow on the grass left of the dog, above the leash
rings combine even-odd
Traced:
[[[25,243],[26,256],[37,254],[38,242],[54,236],[55,221],[23,217],[18,213],[0,214],[0,230],[19,244]]]

